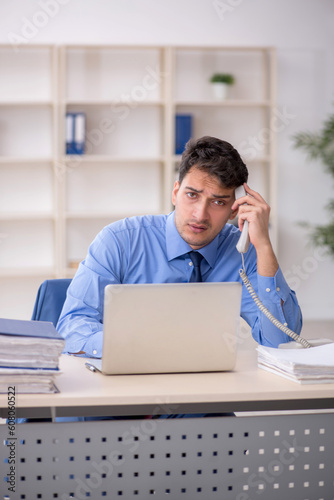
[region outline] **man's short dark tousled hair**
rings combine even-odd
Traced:
[[[226,188],[240,186],[248,179],[247,167],[238,151],[216,137],[205,136],[187,142],[179,169],[180,184],[192,167],[218,177]]]

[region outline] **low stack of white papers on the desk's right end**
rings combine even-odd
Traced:
[[[334,343],[329,342],[309,349],[258,346],[258,366],[300,384],[334,383]]]

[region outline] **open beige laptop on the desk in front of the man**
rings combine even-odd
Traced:
[[[233,370],[241,283],[107,285],[102,359],[105,375]]]

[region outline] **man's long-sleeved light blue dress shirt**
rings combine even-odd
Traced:
[[[226,224],[211,243],[199,250],[204,257],[203,281],[241,281],[241,256],[235,248],[239,236],[236,227]],[[102,356],[106,285],[187,283],[193,270],[187,255],[191,250],[175,227],[174,212],[123,219],[102,229],[73,278],[57,325],[66,339],[66,352],[84,351],[90,357]],[[299,333],[301,311],[281,270],[274,277],[260,276],[253,245],[244,257],[248,278],[260,300],[275,318]],[[244,286],[241,316],[251,326],[254,339],[262,345],[277,347],[290,340],[259,311]]]

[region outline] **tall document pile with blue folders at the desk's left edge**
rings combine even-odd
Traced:
[[[64,344],[52,323],[0,318],[0,393],[58,392]]]

